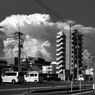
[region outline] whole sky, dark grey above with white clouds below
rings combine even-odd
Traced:
[[[74,21],[74,27],[95,40],[95,0],[41,1],[63,17],[64,20]],[[55,60],[56,33],[66,25],[35,0],[0,0],[0,26],[4,27],[0,31],[0,57],[17,56],[15,53],[17,42],[14,39],[9,39],[11,33],[18,31],[17,18],[19,21],[21,20],[21,31],[27,35],[23,55],[35,55],[47,60]],[[95,42],[86,36],[84,36],[83,48],[92,55],[95,54]]]

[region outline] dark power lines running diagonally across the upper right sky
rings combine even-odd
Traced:
[[[51,13],[52,13],[54,16],[56,16],[58,19],[60,19],[61,21],[63,21],[64,23],[66,23],[67,25],[70,26],[70,23],[68,23],[67,21],[65,21],[62,16],[60,16],[57,12],[55,12],[53,9],[51,9],[49,6],[47,6],[45,3],[43,3],[43,2],[40,1],[40,0],[35,0],[35,1],[36,1],[37,3],[39,3],[41,6],[43,6],[45,9],[47,9],[49,12],[51,12]],[[75,30],[76,28],[72,27],[72,29]],[[78,30],[78,32],[79,32],[79,29],[76,29],[76,30]],[[81,33],[81,32],[79,32],[79,33],[82,34],[82,35],[84,35],[85,37],[89,38],[89,39],[92,40],[93,42],[95,42],[95,40],[93,40],[93,39],[90,38],[89,36],[85,35],[84,33]]]

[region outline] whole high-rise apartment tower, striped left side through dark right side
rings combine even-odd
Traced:
[[[77,30],[60,31],[56,36],[56,61],[58,73],[65,75],[65,80],[77,78],[83,64],[83,38]]]

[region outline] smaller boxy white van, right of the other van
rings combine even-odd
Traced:
[[[24,77],[26,82],[43,82],[43,76],[37,71],[30,71]]]

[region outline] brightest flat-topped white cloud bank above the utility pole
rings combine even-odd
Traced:
[[[9,17],[6,17],[5,20],[3,20],[0,23],[0,26],[4,26],[4,28],[1,28],[3,32],[6,33],[14,33],[15,31],[18,31],[18,28],[32,28],[32,27],[43,27],[50,25],[52,26],[53,23],[49,22],[50,16],[47,14],[31,14],[31,15],[11,15]],[[25,32],[25,31],[21,31]]]

